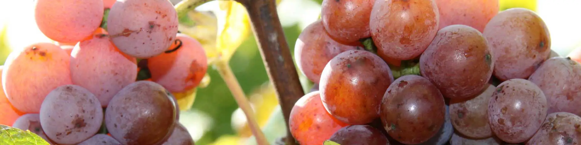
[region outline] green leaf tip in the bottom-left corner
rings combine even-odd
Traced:
[[[0,125],[0,144],[5,145],[49,145],[40,136],[30,131],[22,131],[6,125]]]

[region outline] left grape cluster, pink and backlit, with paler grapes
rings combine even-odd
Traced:
[[[37,0],[46,37],[0,66],[0,124],[51,144],[194,144],[173,93],[207,70],[167,0]]]

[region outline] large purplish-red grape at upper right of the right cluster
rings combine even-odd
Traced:
[[[494,52],[494,75],[501,81],[528,78],[550,55],[547,26],[528,9],[512,8],[498,13],[482,34]]]

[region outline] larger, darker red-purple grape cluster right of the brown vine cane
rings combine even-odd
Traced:
[[[581,48],[498,1],[324,0],[295,46],[300,144],[579,144]],[[577,60],[577,61],[576,61]]]

